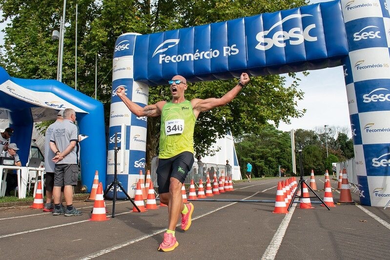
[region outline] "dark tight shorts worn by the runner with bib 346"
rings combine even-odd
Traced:
[[[168,159],[159,159],[156,170],[159,193],[169,192],[171,177],[183,183],[192,168],[192,164],[194,164],[194,155],[190,152],[183,152]]]

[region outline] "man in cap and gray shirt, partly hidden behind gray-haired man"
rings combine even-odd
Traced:
[[[53,130],[59,127],[59,125],[62,123],[62,120],[63,120],[63,110],[60,110],[57,114],[57,120],[51,125],[49,125],[49,127],[47,127],[45,133],[46,203],[44,205],[43,211],[46,212],[52,212],[54,209],[52,198],[53,198],[53,187],[54,187],[55,163],[52,161],[52,159],[56,155],[50,149],[50,138],[53,133]],[[62,192],[63,192],[63,187],[62,187]]]

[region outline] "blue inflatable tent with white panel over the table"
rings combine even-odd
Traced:
[[[76,111],[80,133],[88,138],[80,142],[82,184],[91,191],[95,171],[105,183],[106,147],[103,104],[57,80],[12,78],[0,67],[0,118],[8,119],[15,134],[22,165],[26,165],[33,122],[55,120],[61,109]]]

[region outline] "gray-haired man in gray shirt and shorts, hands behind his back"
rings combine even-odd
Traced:
[[[80,216],[82,212],[73,207],[73,187],[77,185],[79,175],[79,127],[75,124],[76,112],[71,108],[63,111],[63,121],[55,129],[50,138],[50,148],[54,152],[55,166],[53,199],[53,215],[65,214]],[[66,209],[61,207],[61,187],[64,186]]]

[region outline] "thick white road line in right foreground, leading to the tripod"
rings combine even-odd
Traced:
[[[288,227],[288,224],[290,223],[292,214],[294,213],[296,208],[296,204],[293,204],[290,208],[290,211],[286,215],[286,217],[282,220],[282,223],[280,223],[278,230],[276,231],[275,235],[273,236],[271,242],[269,242],[269,245],[266,249],[266,252],[264,252],[261,259],[263,260],[273,260],[275,259],[276,254],[278,253],[279,247],[282,244],[283,238],[286,234],[286,230]]]

